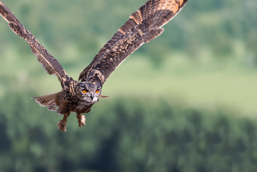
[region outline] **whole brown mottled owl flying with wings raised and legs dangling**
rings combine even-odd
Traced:
[[[76,113],[79,126],[85,124],[85,116],[100,98],[102,85],[113,71],[136,49],[163,33],[164,26],[184,7],[187,0],[149,0],[119,28],[92,62],[80,73],[78,81],[70,77],[60,63],[48,53],[34,35],[28,31],[13,13],[0,1],[0,15],[9,27],[25,39],[37,60],[48,74],[55,75],[61,82],[62,91],[46,96],[34,97],[49,111],[57,111],[63,119],[58,129],[66,132],[67,118]]]

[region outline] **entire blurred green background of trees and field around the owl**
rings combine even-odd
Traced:
[[[74,79],[144,0],[5,0]],[[78,127],[31,97],[61,90],[0,19],[0,171],[256,171],[257,2],[189,0],[107,80]]]

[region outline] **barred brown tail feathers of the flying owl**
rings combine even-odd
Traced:
[[[39,96],[39,97],[32,97],[31,99],[36,99],[36,102],[40,106],[47,106],[47,110],[49,111],[56,111],[58,105],[56,103],[56,98],[59,97],[59,93],[45,95],[45,96]],[[59,109],[59,108],[58,108]]]

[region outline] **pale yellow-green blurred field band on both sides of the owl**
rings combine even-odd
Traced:
[[[136,54],[131,55],[131,59],[127,59],[104,84],[102,94],[111,96],[108,101],[117,97],[145,97],[153,100],[165,98],[168,102],[180,103],[186,107],[230,108],[248,117],[254,118],[256,116],[256,69],[244,68],[231,60],[224,60],[224,62],[210,60],[195,64],[195,62],[188,60],[184,54],[176,52],[167,55],[171,58],[165,60],[161,67],[155,68],[153,67],[154,64],[146,59],[147,57]],[[14,55],[14,57],[17,56],[19,55]],[[11,56],[9,58],[12,59]],[[34,56],[31,55],[30,58],[31,61],[36,61]],[[210,57],[206,56],[206,58]],[[26,87],[31,87],[31,84],[34,84],[34,87],[30,89],[38,92],[38,95],[60,90],[60,84],[56,77],[43,73],[44,70],[40,64],[34,62],[34,66],[31,66],[32,69],[35,70],[36,68],[39,73],[42,73],[40,77],[29,78],[31,69],[19,66],[24,62],[15,60],[11,63],[5,63],[0,70],[1,73],[13,70],[10,72],[12,72],[13,80],[16,83],[15,85],[8,85],[2,82],[0,84],[2,90],[7,91],[13,88],[22,92]],[[17,66],[17,68],[11,69],[10,66],[12,68]],[[74,66],[74,68],[76,67]],[[79,69],[81,68],[83,65],[79,64]],[[73,78],[78,78],[78,73],[81,72],[79,69],[67,70],[67,72]],[[5,78],[7,77],[5,76]],[[19,85],[18,88],[17,84]],[[4,93],[2,92],[1,95],[3,96]]]

